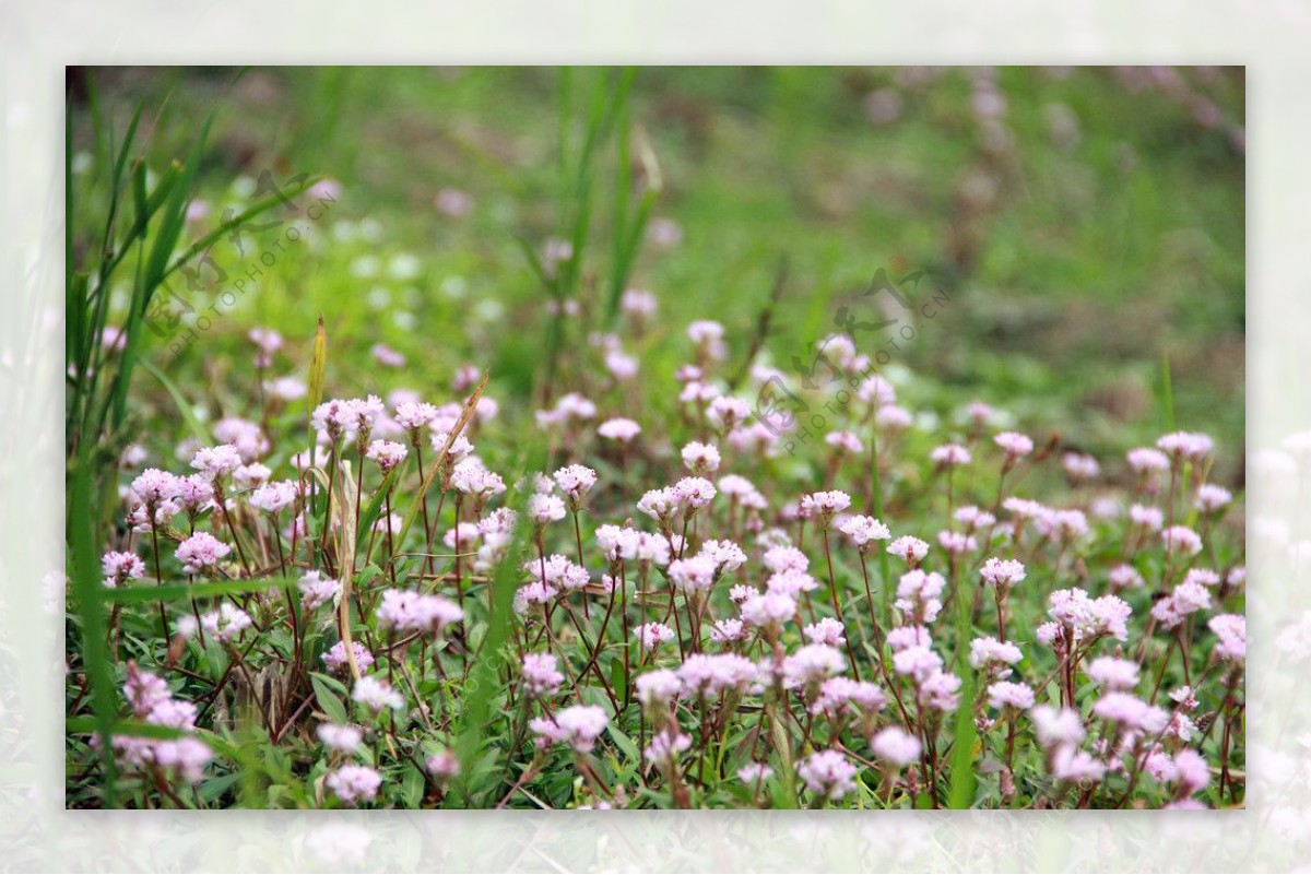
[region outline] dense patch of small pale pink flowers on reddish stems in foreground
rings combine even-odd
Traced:
[[[302,806],[909,810],[964,768],[988,808],[1240,803],[1243,495],[1210,436],[1040,449],[855,334],[738,369],[701,320],[658,373],[653,293],[591,333],[581,291],[552,307],[579,342],[534,407],[461,364],[307,409],[260,334],[219,443],[114,448],[118,717],[176,731],[111,737],[134,802],[189,803],[202,732],[249,726]]]

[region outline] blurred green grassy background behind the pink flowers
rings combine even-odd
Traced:
[[[549,317],[520,241],[540,251],[564,234],[561,136],[578,148],[591,84],[612,75],[71,69],[88,214],[75,227],[97,227],[105,177],[90,157],[89,90],[119,131],[144,102],[156,172],[186,155],[216,109],[199,177],[210,210],[191,238],[266,170],[279,182],[329,177],[341,191],[312,245],[278,254],[181,355],[161,337],[148,360],[195,377],[215,414],[249,414],[245,331],[282,331],[303,376],[323,313],[330,389],[437,396],[472,362],[493,369],[502,403],[527,410]],[[915,375],[916,406],[945,414],[982,398],[1036,435],[1057,427],[1072,445],[1118,453],[1167,428],[1168,358],[1176,424],[1215,435],[1221,479],[1240,477],[1240,68],[644,68],[631,113],[636,185],[661,182],[629,283],[661,303],[640,347],[649,392],[674,394],[694,318],[725,324],[730,362],[746,354],[780,259],[788,279],[766,343],[777,364],[834,330],[876,270],[905,263],[949,297],[897,355]],[[607,149],[572,343],[602,309],[612,165]],[[233,241],[212,253],[231,275],[262,251],[245,233],[244,254]],[[75,250],[93,245],[75,233]],[[178,291],[198,313],[214,300]],[[125,307],[126,291],[113,300]],[[379,342],[408,365],[379,367],[368,352]],[[136,381],[148,411],[160,389]]]

